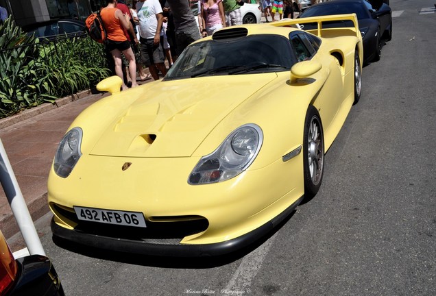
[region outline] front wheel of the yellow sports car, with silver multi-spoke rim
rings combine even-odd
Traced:
[[[318,110],[309,106],[303,136],[304,197],[315,196],[324,174],[324,132]]]

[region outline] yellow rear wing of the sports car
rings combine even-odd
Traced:
[[[352,27],[334,27],[332,23],[344,23],[351,21]],[[325,28],[323,28],[323,23]],[[329,24],[326,27],[327,23]],[[304,24],[311,24],[311,29],[304,29]],[[316,28],[312,28],[314,24],[317,24]],[[339,36],[356,36],[362,40],[361,32],[359,31],[359,23],[357,22],[356,14],[335,14],[328,16],[313,16],[308,18],[285,18],[282,21],[276,21],[270,23],[275,27],[298,27],[304,29],[307,32],[315,34],[323,38],[334,38]]]

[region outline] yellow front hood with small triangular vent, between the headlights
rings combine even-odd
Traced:
[[[191,156],[224,117],[276,77],[276,73],[223,75],[142,86],[143,91],[135,93],[138,99],[106,127],[90,154]]]

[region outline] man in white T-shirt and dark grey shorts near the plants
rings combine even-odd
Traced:
[[[154,80],[159,79],[158,71],[167,74],[165,56],[160,45],[163,12],[158,0],[140,0],[136,3],[139,19],[139,40],[141,42],[141,62],[148,67]]]

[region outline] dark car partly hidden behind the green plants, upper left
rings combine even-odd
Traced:
[[[86,35],[86,26],[82,21],[73,19],[51,20],[43,23],[33,23],[23,27],[27,34],[34,34],[37,38],[55,40],[57,38],[71,38]]]

